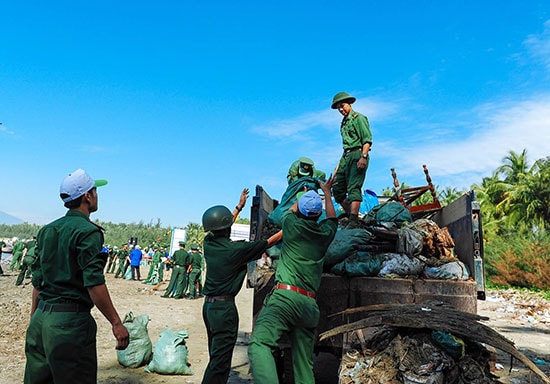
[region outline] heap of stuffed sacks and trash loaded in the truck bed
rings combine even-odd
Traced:
[[[346,220],[340,220],[340,228],[327,249],[325,273],[347,277],[470,279],[467,266],[454,253],[455,244],[448,229],[427,218],[413,221],[410,211],[398,202],[375,206],[361,218],[358,228],[346,229]],[[262,238],[275,233],[279,229],[276,224],[268,221]],[[261,282],[263,274],[276,269],[280,244],[270,248],[268,255],[273,260],[271,267],[257,269],[252,280]],[[254,282],[253,285],[257,286]]]

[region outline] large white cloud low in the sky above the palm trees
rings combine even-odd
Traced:
[[[402,174],[418,174],[419,166],[428,164],[432,177],[453,186],[480,182],[510,150],[526,149],[531,163],[550,155],[550,95],[486,104],[475,112],[479,120],[470,122],[475,129],[463,140],[409,147],[406,142],[386,142],[378,144],[380,152],[399,164]]]

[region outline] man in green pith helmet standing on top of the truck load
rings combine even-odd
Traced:
[[[358,226],[363,183],[372,145],[369,120],[351,108],[355,100],[355,97],[346,92],[339,92],[332,99],[332,109],[337,109],[344,116],[340,124],[344,153],[336,167],[333,194],[349,217],[346,227],[349,229]]]

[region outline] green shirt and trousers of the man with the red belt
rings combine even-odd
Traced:
[[[275,289],[265,301],[254,327],[248,348],[254,380],[257,383],[278,383],[272,350],[285,332],[290,331],[292,361],[296,383],[313,384],[313,346],[319,323],[319,307],[315,295],[321,284],[325,252],[336,234],[336,219],[321,223],[299,218],[292,211],[282,222],[283,245]],[[295,290],[302,290],[302,293]],[[308,296],[309,295],[309,296]]]

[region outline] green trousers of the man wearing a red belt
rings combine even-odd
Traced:
[[[265,300],[248,346],[254,381],[279,383],[272,351],[283,333],[288,332],[294,380],[300,384],[314,384],[313,347],[318,324],[319,307],[315,299],[293,291],[273,291]]]

